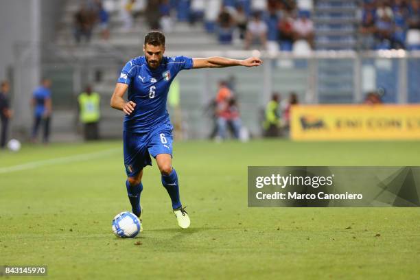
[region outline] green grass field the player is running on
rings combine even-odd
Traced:
[[[110,226],[130,209],[121,142],[0,152],[0,266],[47,265],[50,279],[419,279],[420,209],[253,209],[246,197],[248,165],[420,165],[419,155],[420,142],[176,143],[191,227],[178,229],[154,165],[145,230],[121,240]]]

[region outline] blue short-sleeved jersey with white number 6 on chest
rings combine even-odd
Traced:
[[[119,75],[118,82],[128,84],[128,100],[135,110],[124,118],[124,131],[149,132],[165,122],[170,123],[166,110],[167,93],[176,74],[193,67],[192,58],[163,56],[155,70],[148,67],[144,56],[130,60]]]

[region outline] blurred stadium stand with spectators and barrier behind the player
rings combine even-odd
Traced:
[[[159,1],[160,2],[160,1]],[[418,1],[417,1],[418,2]],[[266,51],[260,44],[249,49],[263,51],[266,63],[259,69],[224,69],[223,71],[183,71],[178,76],[182,96],[183,122],[189,137],[202,137],[209,128],[203,126],[209,120],[202,113],[217,91],[218,81],[234,76],[236,95],[242,120],[251,132],[259,131],[259,108],[277,91],[282,97],[296,92],[302,103],[353,103],[362,102],[366,91],[381,89],[386,103],[419,102],[420,90],[417,76],[420,59],[406,57],[404,51],[388,51],[387,48],[419,49],[420,30],[416,1],[373,0],[170,0],[162,1],[157,12],[163,15],[159,21],[167,36],[167,55],[186,56],[249,56],[245,51],[246,23],[255,12],[261,14],[266,25]],[[49,29],[54,29],[54,40],[43,40],[40,68],[42,75],[53,80],[55,132],[74,132],[76,95],[86,84],[93,84],[102,96],[102,122],[106,126],[104,137],[121,131],[121,114],[108,106],[121,67],[132,57],[142,54],[143,36],[156,24],[148,14],[156,13],[150,7],[152,1],[136,0],[129,7],[133,16],[132,27],[126,26],[124,9],[128,0],[102,0],[107,18],[109,36],[104,36],[99,21],[93,24],[89,42],[75,40],[75,14],[84,3],[87,9],[97,5],[95,0],[61,1],[60,9],[54,10],[55,25],[51,16]],[[157,3],[154,1],[153,3]],[[235,20],[224,30],[226,36],[220,43],[220,7]],[[393,13],[389,23],[396,40],[380,40],[377,25],[378,10]],[[368,14],[371,14],[370,20]],[[379,12],[379,14],[381,14]],[[312,35],[296,35],[296,21],[307,18],[303,30]],[[300,23],[301,24],[301,23]],[[46,27],[43,24],[43,27]],[[299,25],[298,25],[299,26]],[[302,24],[301,24],[302,27]],[[365,32],[362,32],[364,29]],[[227,40],[226,40],[227,39]],[[254,42],[253,42],[254,43]],[[22,46],[22,52],[30,54]],[[379,50],[372,51],[369,50]],[[277,53],[281,51],[281,53]],[[360,52],[358,52],[360,51]],[[367,51],[367,52],[366,52]],[[257,51],[258,53],[258,51]],[[414,54],[414,53],[413,53]],[[303,56],[302,56],[303,55]],[[25,57],[25,56],[23,56]],[[26,56],[29,57],[29,56]],[[381,59],[395,58],[395,59]],[[26,58],[27,60],[29,58]],[[19,69],[25,69],[27,60],[21,59]],[[406,65],[406,66],[405,66]],[[406,68],[405,68],[406,67]],[[406,69],[406,71],[399,71]],[[369,74],[369,75],[366,75]],[[22,78],[23,79],[23,78]],[[406,79],[406,80],[404,80]],[[369,80],[370,82],[366,82]],[[24,84],[19,80],[16,84]],[[258,108],[256,108],[258,107]],[[74,119],[73,122],[69,119]],[[103,129],[102,129],[103,130]]]

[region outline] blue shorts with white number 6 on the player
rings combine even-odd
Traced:
[[[162,124],[150,132],[137,133],[124,131],[124,165],[128,177],[138,174],[158,154],[172,156],[172,124]]]

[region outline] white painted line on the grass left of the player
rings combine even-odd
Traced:
[[[29,163],[23,163],[19,165],[13,165],[8,167],[0,167],[0,174],[16,172],[16,171],[23,171],[23,170],[31,170],[38,167],[43,167],[47,165],[57,165],[63,163],[73,163],[75,161],[89,161],[91,159],[97,159],[102,156],[107,156],[109,154],[114,154],[115,152],[121,151],[120,148],[114,148],[109,150],[103,150],[101,152],[91,152],[87,154],[77,154],[75,156],[63,156],[57,159],[46,159],[44,161],[32,161]]]

